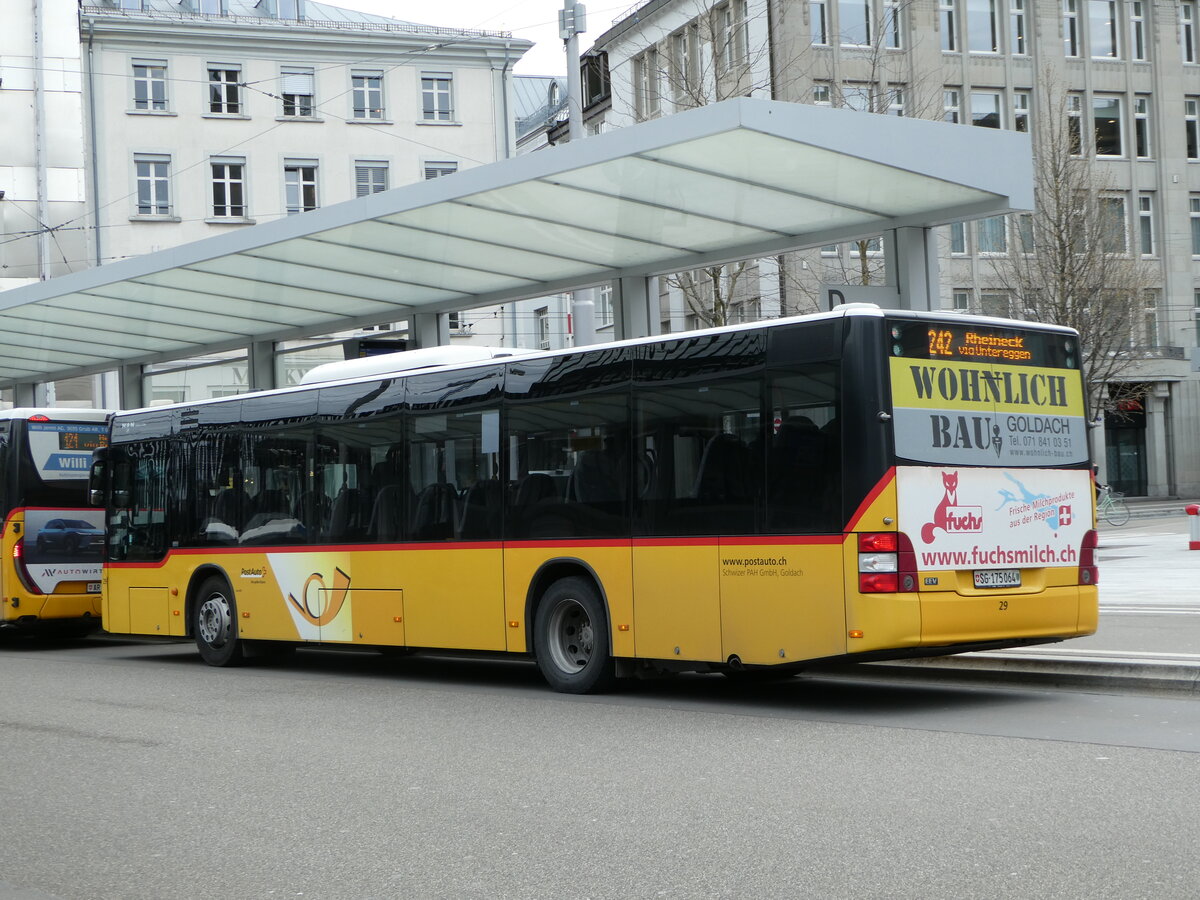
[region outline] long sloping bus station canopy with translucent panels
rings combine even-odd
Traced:
[[[1028,137],[731,100],[0,293],[0,384],[1032,208]]]

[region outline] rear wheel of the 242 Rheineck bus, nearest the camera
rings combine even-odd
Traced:
[[[587,578],[559,578],[541,595],[534,616],[534,655],[556,691],[590,694],[616,682],[608,617]]]

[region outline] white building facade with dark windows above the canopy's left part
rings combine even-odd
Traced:
[[[0,113],[20,127],[0,128],[0,287],[515,152],[512,65],[530,44],[505,32],[307,0],[40,0],[14,20],[4,4]],[[26,106],[47,107],[40,143]],[[282,385],[341,352],[314,338],[164,360],[145,367],[143,400]]]

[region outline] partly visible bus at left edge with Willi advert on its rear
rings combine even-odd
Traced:
[[[85,635],[100,628],[104,515],[88,502],[108,412],[0,412],[0,631]]]

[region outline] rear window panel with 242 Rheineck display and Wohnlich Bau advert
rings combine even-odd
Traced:
[[[898,457],[1021,467],[1087,460],[1073,336],[902,323],[890,337]]]

